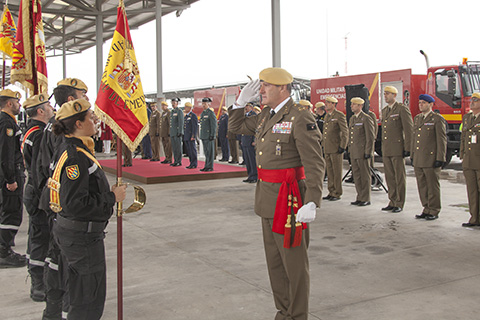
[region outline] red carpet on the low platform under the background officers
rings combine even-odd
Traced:
[[[99,160],[105,172],[117,174],[117,160]],[[133,159],[133,166],[122,167],[122,175],[125,178],[136,180],[145,184],[167,183],[179,181],[227,179],[235,177],[246,177],[245,167],[238,165],[226,165],[215,162],[213,171],[202,172],[204,162],[198,161],[196,169],[186,169],[190,161],[183,159],[182,166],[171,167],[168,164],[152,162],[150,160]]]

